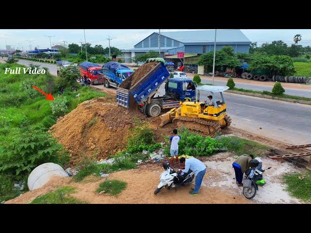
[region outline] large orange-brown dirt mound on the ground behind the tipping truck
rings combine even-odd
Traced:
[[[128,130],[134,127],[134,118],[146,120],[147,116],[112,100],[115,99],[87,100],[51,127],[53,136],[69,150],[71,165],[85,158],[106,158],[123,150]]]

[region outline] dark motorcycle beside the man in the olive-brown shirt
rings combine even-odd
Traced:
[[[243,195],[247,199],[253,199],[258,191],[258,185],[263,186],[266,182],[262,177],[265,170],[261,169],[261,163],[258,160],[250,161],[250,169],[245,172],[245,180],[243,183]],[[270,169],[268,167],[267,169]],[[267,170],[266,169],[266,170]]]

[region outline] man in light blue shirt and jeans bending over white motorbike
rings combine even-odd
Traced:
[[[206,166],[204,163],[202,163],[200,160],[196,158],[180,158],[180,163],[183,164],[185,169],[180,169],[182,172],[187,173],[190,170],[194,171],[195,175],[195,188],[191,188],[191,191],[189,192],[192,195],[198,195],[198,192],[200,190],[203,177],[206,173]]]

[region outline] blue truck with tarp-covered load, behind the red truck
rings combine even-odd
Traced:
[[[102,66],[102,69],[104,73],[104,85],[107,88],[110,86],[119,86],[134,72],[134,70],[119,62],[107,62]]]

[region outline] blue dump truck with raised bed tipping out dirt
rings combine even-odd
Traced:
[[[138,72],[138,69],[135,72]],[[128,78],[129,80],[132,78],[131,76]],[[117,87],[117,103],[126,108],[134,108],[137,102],[140,112],[155,117],[160,115],[162,109],[179,107],[182,100],[195,100],[196,83],[190,79],[169,79],[169,77],[170,73],[167,68],[162,62],[159,62],[128,89],[122,88],[122,86]],[[163,83],[165,83],[165,95],[155,97]]]

